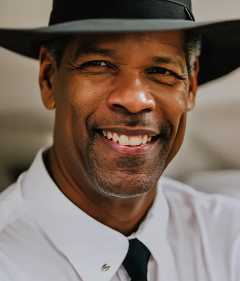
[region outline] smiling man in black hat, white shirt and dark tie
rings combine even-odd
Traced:
[[[49,27],[0,30],[39,57],[56,112],[53,146],[1,195],[1,281],[240,280],[240,204],[162,177],[197,85],[239,67],[239,31],[188,0],[55,0]]]

